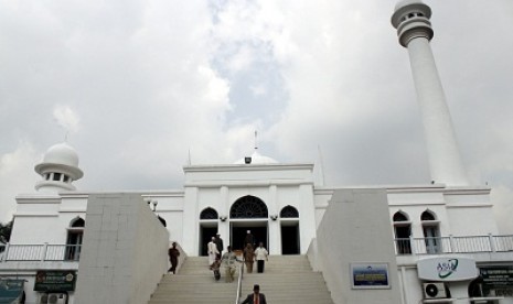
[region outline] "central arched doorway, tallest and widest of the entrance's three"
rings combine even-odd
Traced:
[[[238,198],[229,209],[231,246],[234,250],[244,248],[244,239],[247,230],[255,237],[256,243],[263,242],[268,248],[268,220],[267,205],[258,197],[246,195]]]

